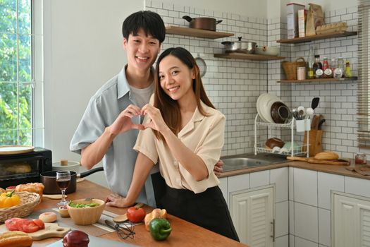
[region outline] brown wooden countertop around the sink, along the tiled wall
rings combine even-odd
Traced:
[[[232,157],[243,157],[243,155],[234,155]],[[322,171],[330,174],[337,174],[337,175],[343,175],[343,176],[352,176],[359,179],[370,179],[370,176],[364,176],[362,174],[359,174],[355,171],[348,171],[346,167],[362,167],[363,165],[357,165],[354,164],[354,159],[351,159],[350,166],[337,166],[333,164],[312,164],[308,162],[302,162],[302,161],[281,161],[277,162],[275,164],[266,164],[258,167],[248,167],[245,169],[238,169],[233,171],[225,171],[223,172],[219,178],[227,177],[227,176],[235,176],[239,174],[247,174],[252,173],[256,171],[265,171],[269,169],[277,169],[281,167],[297,167],[302,169],[308,169],[313,171]],[[369,166],[370,167],[370,166]]]

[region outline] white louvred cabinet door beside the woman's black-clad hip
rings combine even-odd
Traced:
[[[230,215],[241,243],[273,246],[273,187],[235,191],[229,195]]]

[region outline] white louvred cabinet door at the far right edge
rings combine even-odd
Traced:
[[[333,195],[333,246],[370,246],[370,198],[367,199]]]

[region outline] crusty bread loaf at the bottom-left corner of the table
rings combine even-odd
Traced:
[[[32,246],[32,238],[23,231],[6,231],[0,234],[0,247]]]

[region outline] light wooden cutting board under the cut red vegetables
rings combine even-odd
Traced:
[[[64,235],[70,230],[69,227],[59,227],[58,223],[45,223],[45,229],[32,232],[28,235],[32,237],[33,240],[42,240],[48,238],[63,238]],[[5,224],[0,225],[0,232],[6,232],[8,229]]]

